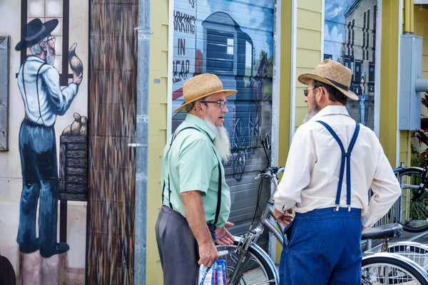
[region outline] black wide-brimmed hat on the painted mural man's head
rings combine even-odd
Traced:
[[[30,46],[34,46],[39,41],[54,31],[58,25],[58,19],[52,19],[42,23],[39,18],[29,21],[22,29],[21,41],[15,46],[16,51],[21,51]]]

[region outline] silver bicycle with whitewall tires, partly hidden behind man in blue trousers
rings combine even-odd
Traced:
[[[267,145],[267,148],[269,148],[267,135],[265,136],[265,140],[262,141],[262,145],[267,155],[265,147],[265,145]],[[268,161],[270,160],[268,159]],[[270,165],[270,162],[268,165]],[[284,167],[267,166],[265,170],[260,171],[255,178],[262,179],[260,184],[263,180],[272,182],[274,187],[272,193],[275,193],[277,190],[278,175],[283,171]],[[282,233],[284,232],[284,226],[277,223],[273,218],[273,204],[274,201],[271,195],[255,227],[250,227],[248,232],[242,237],[235,237],[235,242],[232,245],[217,246],[219,259],[225,261],[225,270],[229,285],[278,284],[279,275],[274,262],[270,259],[268,254],[255,243],[258,237],[260,237],[260,234],[267,228],[277,241],[283,244]],[[387,242],[387,238],[391,236],[391,231],[393,236],[397,234],[397,231],[384,229],[384,227],[370,229],[370,231],[367,232],[367,238],[384,238],[385,242]],[[388,225],[387,227],[391,226]],[[402,229],[402,226],[399,227]],[[382,229],[384,230],[382,231]],[[366,231],[367,230],[368,229],[366,229]],[[377,230],[380,230],[381,234],[377,235]],[[405,258],[391,253],[379,253],[364,257],[362,261],[362,273],[364,273],[362,284],[388,284],[387,281],[405,280],[405,282],[415,281],[418,283],[404,284],[428,285],[427,273],[423,271],[423,269],[420,271],[421,267],[414,261],[402,259]],[[376,272],[378,273],[376,274]],[[388,276],[388,278],[385,276]],[[384,283],[379,283],[380,281]]]

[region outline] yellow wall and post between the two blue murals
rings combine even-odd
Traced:
[[[312,72],[320,63],[322,0],[297,1],[296,74]],[[281,2],[281,43],[280,43],[280,133],[278,145],[278,165],[285,165],[290,148],[290,115],[292,81],[292,1]],[[297,76],[296,76],[297,78]],[[302,83],[297,82],[295,92],[295,128],[302,124],[307,113]],[[282,245],[277,243],[276,263],[280,262]]]

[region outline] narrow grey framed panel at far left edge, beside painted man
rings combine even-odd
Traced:
[[[10,36],[0,36],[0,150],[9,150]]]

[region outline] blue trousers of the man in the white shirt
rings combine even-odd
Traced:
[[[361,284],[361,210],[296,213],[286,227],[280,284]]]

